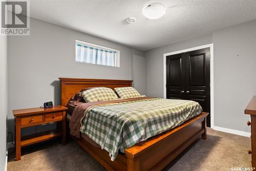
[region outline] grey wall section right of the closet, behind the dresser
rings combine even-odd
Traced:
[[[216,126],[250,132],[244,109],[256,95],[255,49],[256,20],[214,31]]]

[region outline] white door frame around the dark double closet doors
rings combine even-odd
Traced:
[[[166,99],[166,56],[199,49],[210,48],[210,127],[214,127],[214,44],[207,44],[194,48],[183,49],[163,54],[163,98]]]

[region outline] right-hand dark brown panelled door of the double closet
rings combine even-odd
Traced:
[[[210,48],[186,53],[186,99],[197,101],[210,113]],[[210,115],[206,118],[210,126]]]

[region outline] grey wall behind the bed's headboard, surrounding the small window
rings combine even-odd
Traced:
[[[8,38],[8,116],[12,132],[13,109],[37,107],[46,101],[60,104],[58,77],[130,80],[132,55],[143,53],[33,18],[30,25],[30,36]],[[120,68],[75,62],[76,39],[120,50]]]

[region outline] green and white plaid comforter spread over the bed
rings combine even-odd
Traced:
[[[94,106],[82,119],[80,132],[87,134],[114,161],[118,151],[163,133],[199,115],[198,102],[146,99]]]

